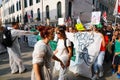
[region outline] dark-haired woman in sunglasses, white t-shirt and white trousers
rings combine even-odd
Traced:
[[[64,63],[65,68],[63,69],[58,62],[55,61],[54,71],[59,70],[59,79],[58,80],[66,80],[67,68],[70,65],[70,59],[72,56],[72,47],[69,39],[66,38],[65,30],[63,27],[59,27],[56,31],[58,37],[57,48],[54,51],[54,54],[60,58],[60,60]]]

